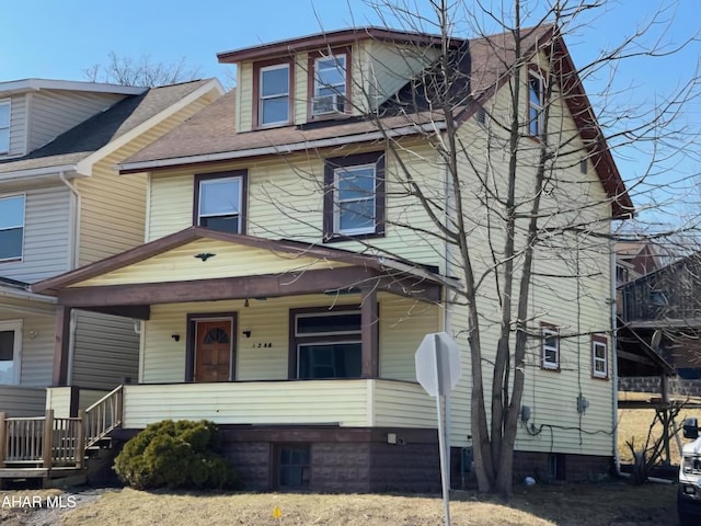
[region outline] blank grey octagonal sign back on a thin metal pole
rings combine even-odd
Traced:
[[[446,526],[450,526],[450,462],[440,397],[445,398],[446,407],[449,407],[450,393],[462,375],[460,348],[445,332],[426,334],[416,350],[414,362],[416,364],[416,379],[429,396],[436,398],[443,505]]]

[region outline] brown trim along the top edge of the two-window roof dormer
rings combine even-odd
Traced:
[[[221,52],[217,54],[217,58],[221,64],[237,64],[243,60],[257,60],[260,58],[290,55],[306,49],[338,46],[369,38],[406,44],[440,45],[439,35],[368,26],[317,33],[288,41],[278,41],[271,44],[243,47],[231,52]],[[455,46],[458,46],[463,41],[461,38],[456,38],[453,42]]]

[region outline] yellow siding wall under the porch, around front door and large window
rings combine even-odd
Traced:
[[[237,312],[237,380],[274,380],[288,376],[289,310],[302,307],[358,305],[358,295],[309,295],[265,300],[154,305],[142,331],[141,382],[183,381],[187,315]],[[414,353],[427,332],[438,332],[439,308],[381,294],[380,375],[415,381]],[[245,338],[243,331],[250,331]],[[174,342],[171,335],[179,334]]]

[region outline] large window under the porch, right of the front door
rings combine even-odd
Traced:
[[[360,311],[294,313],[296,378],[359,378]]]

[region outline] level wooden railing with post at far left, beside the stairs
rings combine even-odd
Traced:
[[[0,467],[76,467],[85,458],[82,412],[77,418],[9,418],[0,413]]]

